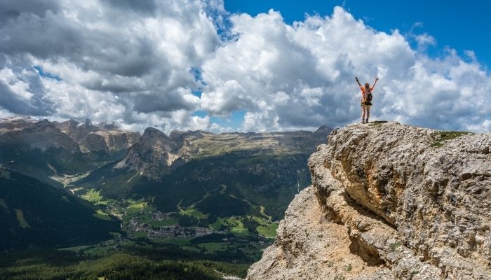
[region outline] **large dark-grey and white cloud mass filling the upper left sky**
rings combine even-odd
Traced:
[[[6,58],[0,61],[0,107],[142,127],[155,120],[182,123],[164,119],[175,111],[191,115],[199,109],[199,97],[192,92],[201,83],[191,69],[220,45],[204,2],[0,5],[9,17],[0,21],[0,55]],[[58,79],[40,75],[34,66]]]

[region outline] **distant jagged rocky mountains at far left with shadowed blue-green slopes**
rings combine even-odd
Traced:
[[[0,118],[0,165],[53,185],[46,175],[87,172],[119,160],[139,138],[139,132],[95,126],[90,120],[58,123],[22,116]]]

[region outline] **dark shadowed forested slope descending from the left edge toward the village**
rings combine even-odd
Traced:
[[[17,172],[0,169],[0,248],[67,246],[109,239],[114,218],[73,195]]]

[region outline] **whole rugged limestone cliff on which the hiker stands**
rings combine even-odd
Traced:
[[[491,279],[491,133],[349,125],[247,279]]]

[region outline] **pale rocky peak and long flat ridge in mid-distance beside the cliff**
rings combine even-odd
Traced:
[[[330,132],[330,130],[329,130]],[[138,170],[151,179],[159,179],[170,166],[192,158],[224,155],[238,151],[292,154],[311,153],[325,134],[313,132],[222,133],[173,131],[170,137],[149,127],[116,168]],[[176,165],[177,166],[177,165]]]

